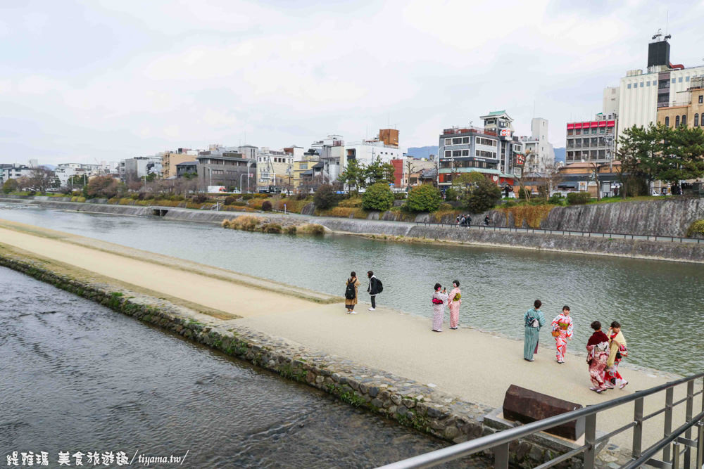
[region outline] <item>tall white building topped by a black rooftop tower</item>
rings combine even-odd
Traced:
[[[621,79],[618,96],[618,136],[634,125],[648,127],[658,120],[658,109],[677,105],[691,80],[704,76],[704,66],[685,68],[670,63],[670,35],[655,34],[648,44],[648,67],[629,70]]]

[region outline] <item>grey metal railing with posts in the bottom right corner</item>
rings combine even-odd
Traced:
[[[485,437],[471,439],[470,441],[448,446],[444,449],[431,451],[426,454],[421,454],[420,456],[415,456],[403,461],[384,465],[382,466],[382,469],[431,468],[434,465],[453,461],[465,456],[471,456],[479,451],[486,451],[488,449],[494,452],[494,468],[508,469],[508,448],[511,442],[515,442],[518,439],[528,437],[529,435],[534,435],[535,433],[543,430],[548,430],[549,428],[562,425],[563,423],[572,422],[579,418],[585,419],[584,444],[579,446],[579,448],[568,451],[565,454],[536,466],[536,469],[551,468],[553,465],[562,463],[562,461],[567,461],[568,459],[578,456],[579,454],[584,454],[584,468],[593,469],[596,459],[596,447],[598,444],[607,442],[611,437],[619,435],[620,433],[630,430],[631,428],[633,429],[633,442],[631,446],[631,455],[633,459],[630,463],[622,467],[637,468],[641,465],[648,464],[659,468],[675,469],[679,468],[681,454],[684,452],[684,467],[686,469],[690,469],[692,456],[691,451],[692,449],[696,449],[695,467],[700,469],[704,458],[704,395],[702,399],[702,411],[696,414],[696,416],[693,415],[694,398],[699,394],[704,394],[704,390],[694,392],[694,383],[699,378],[704,378],[704,373],[687,376],[686,378],[671,381],[670,383],[651,387],[649,390],[637,391],[629,396],[618,397],[617,399],[602,402],[601,404],[595,404],[593,406],[583,407],[582,409],[577,409],[575,411],[561,413],[558,416],[537,420],[536,422],[528,423],[527,425],[520,425],[515,428],[496,432],[492,435],[486,435]],[[685,383],[687,386],[686,397],[674,402],[674,388]],[[643,416],[643,398],[661,391],[665,391],[665,406],[658,409],[658,411],[650,413],[647,416]],[[617,406],[628,404],[629,402],[634,402],[633,420],[606,435],[596,437],[596,415],[599,412],[608,411]],[[686,403],[686,422],[676,430],[672,430],[672,409],[683,402]],[[643,450],[641,449],[643,443],[643,422],[660,415],[660,413],[665,414],[663,428],[664,436],[662,439],[658,440],[658,442],[655,442],[655,444]],[[692,428],[695,426],[697,428],[697,436],[696,439],[691,439]],[[682,435],[684,435],[684,437]],[[680,449],[680,445],[684,446],[684,451]],[[662,461],[654,458],[654,456],[660,451],[662,451]]]

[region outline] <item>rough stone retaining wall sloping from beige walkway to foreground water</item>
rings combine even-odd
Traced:
[[[291,345],[282,338],[238,326],[237,321],[227,321],[227,326],[206,324],[197,319],[202,316],[184,307],[165,300],[155,302],[151,297],[129,290],[115,292],[108,290],[108,285],[77,281],[51,271],[50,266],[41,262],[0,255],[0,265],[448,442],[464,442],[498,431],[484,424],[484,416],[493,409],[444,394],[432,385],[423,385],[300,345]],[[565,451],[565,446],[552,437],[534,435],[530,439],[513,442],[510,451],[513,465],[532,468],[558,456]],[[610,458],[613,459],[612,456]],[[578,458],[560,465],[568,468],[581,466],[582,461]],[[600,467],[608,466],[604,461]]]

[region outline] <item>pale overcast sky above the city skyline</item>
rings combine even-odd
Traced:
[[[645,68],[668,9],[672,63],[704,65],[704,1],[685,4],[0,0],[0,162],[308,148],[389,124],[437,145],[502,109],[565,146],[565,122]]]

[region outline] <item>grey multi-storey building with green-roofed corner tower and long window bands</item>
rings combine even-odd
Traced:
[[[505,110],[481,117],[484,127],[450,127],[439,139],[438,185],[446,188],[453,176],[480,172],[495,184],[513,186],[517,153],[523,143],[513,137],[513,119]]]

